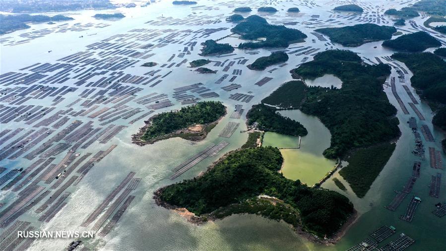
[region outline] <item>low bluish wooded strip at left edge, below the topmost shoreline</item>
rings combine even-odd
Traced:
[[[20,14],[20,15],[1,15],[0,14],[0,34],[4,34],[7,32],[11,32],[18,29],[26,29],[29,28],[29,25],[26,23],[42,23],[42,22],[50,22],[50,21],[66,21],[66,20],[74,20],[72,17],[67,17],[64,15],[55,15],[55,16],[45,16],[45,15],[28,15],[28,14]]]

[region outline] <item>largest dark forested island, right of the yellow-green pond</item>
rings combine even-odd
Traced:
[[[342,176],[357,196],[364,196],[391,156],[392,142],[400,135],[396,109],[389,103],[382,87],[390,74],[390,66],[364,64],[351,51],[327,50],[291,73],[294,78],[303,80],[333,74],[342,81],[340,89],[305,87],[306,97],[300,110],[317,116],[330,130],[331,144],[323,155],[351,163],[352,166],[342,169],[345,169]],[[297,91],[293,93],[297,94]],[[294,101],[292,104],[295,107],[299,103]],[[372,152],[380,154],[368,154]],[[364,163],[374,163],[373,168],[372,164]],[[359,172],[365,174],[364,180],[358,181]]]

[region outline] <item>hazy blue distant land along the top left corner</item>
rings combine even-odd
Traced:
[[[0,4],[0,11],[14,13],[108,8],[116,8],[116,6],[110,0],[1,0]]]

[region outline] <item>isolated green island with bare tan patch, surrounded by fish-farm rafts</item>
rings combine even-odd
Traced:
[[[215,101],[198,102],[178,111],[160,113],[145,121],[146,125],[132,135],[132,142],[146,145],[172,137],[202,140],[224,115],[226,107]]]

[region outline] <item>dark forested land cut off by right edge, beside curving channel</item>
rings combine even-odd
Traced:
[[[421,91],[420,96],[430,101],[446,104],[446,62],[432,53],[396,53],[393,59],[406,64],[413,76],[412,86]]]

